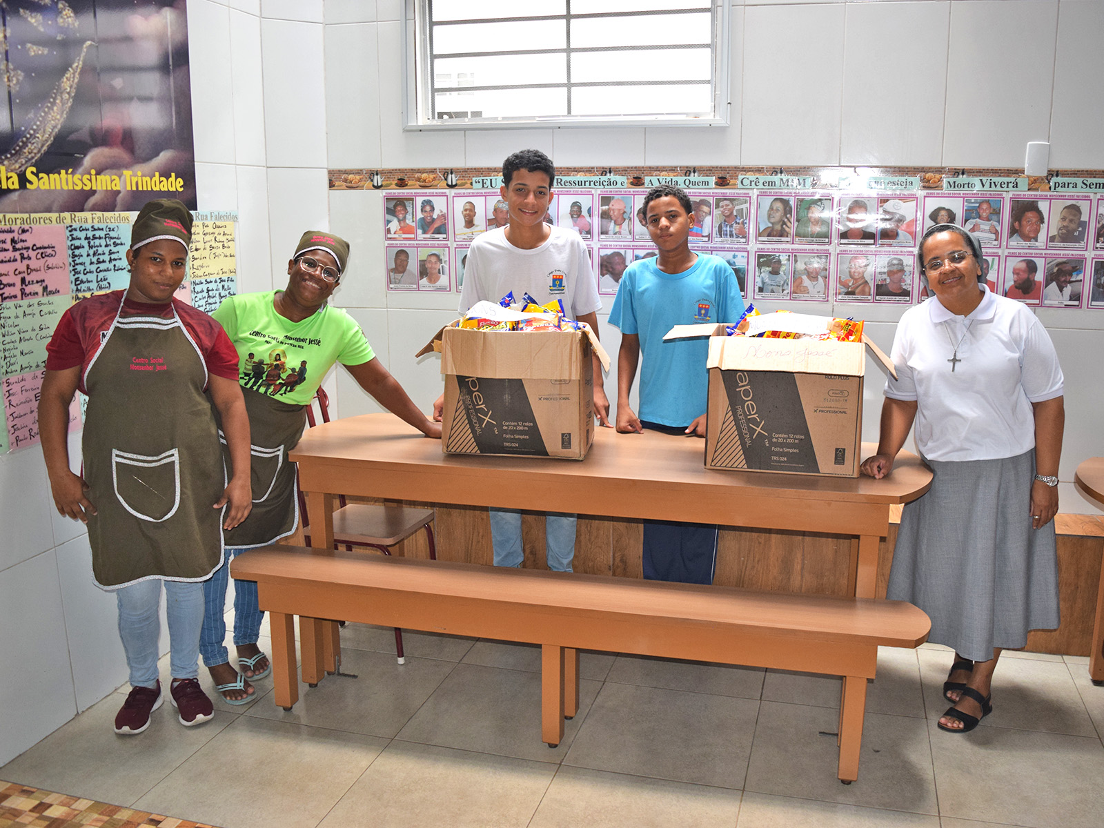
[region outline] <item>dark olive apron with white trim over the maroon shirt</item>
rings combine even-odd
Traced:
[[[84,372],[96,583],[203,581],[222,563],[225,473],[203,357],[180,319],[119,315]]]

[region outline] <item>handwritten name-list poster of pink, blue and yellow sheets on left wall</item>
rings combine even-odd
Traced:
[[[137,213],[0,214],[0,454],[39,442],[38,400],[46,344],[66,308],[127,287],[126,252]],[[192,243],[177,298],[211,312],[237,293],[233,212],[193,213]],[[83,394],[70,412],[79,427]]]

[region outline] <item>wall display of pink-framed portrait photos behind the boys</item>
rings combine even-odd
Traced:
[[[656,255],[644,188],[553,190],[544,221],[586,243],[598,293]],[[1104,308],[1104,195],[1073,192],[688,190],[690,245],[723,258],[751,301],[907,306],[928,297],[916,243],[938,223],[974,233],[994,293],[1032,307]],[[395,291],[454,291],[471,242],[506,226],[497,190],[386,191],[384,270]]]

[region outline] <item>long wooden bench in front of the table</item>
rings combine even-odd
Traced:
[[[858,778],[867,679],[878,647],[916,647],[927,616],[911,604],[749,592],[602,575],[266,546],[234,559],[270,614],[276,704],[298,700],[294,616],[304,662],[317,618],[541,645],[541,739],[556,746],[578,708],[578,650],[630,652],[843,678],[839,778]]]

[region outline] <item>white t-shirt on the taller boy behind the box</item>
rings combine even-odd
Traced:
[[[548,226],[548,240],[531,251],[510,244],[506,227],[476,236],[468,248],[460,312],[477,301],[498,301],[510,291],[518,302],[526,293],[541,305],[561,299],[573,319],[598,310],[598,280],[583,240],[574,229]]]

